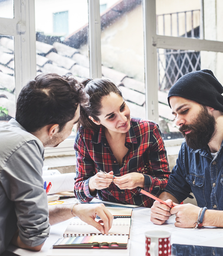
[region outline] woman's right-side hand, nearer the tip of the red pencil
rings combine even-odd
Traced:
[[[121,177],[115,177],[113,182],[120,189],[133,189],[136,187],[144,188],[145,178],[141,173],[132,172]]]

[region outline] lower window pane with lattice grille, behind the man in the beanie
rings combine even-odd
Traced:
[[[223,84],[223,53],[192,50],[158,49],[158,108],[164,139],[182,138],[168,105],[168,92],[181,76],[200,69],[210,69]]]

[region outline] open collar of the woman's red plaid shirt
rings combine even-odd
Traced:
[[[91,143],[98,144],[103,142],[102,140],[104,139],[106,139],[105,133],[104,133],[104,127],[103,125],[100,125],[100,129],[94,131],[94,135],[91,139]],[[137,144],[135,131],[131,121],[130,121],[130,129],[129,131],[126,132],[126,142]]]

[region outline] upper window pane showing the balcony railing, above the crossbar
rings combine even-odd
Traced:
[[[200,0],[156,0],[157,34],[200,38]]]

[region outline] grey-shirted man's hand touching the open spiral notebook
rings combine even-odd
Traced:
[[[95,205],[78,204],[74,206],[73,212],[74,216],[78,216],[87,224],[96,227],[102,234],[108,234],[112,226],[113,215],[103,203],[97,203]],[[96,215],[101,218],[99,222],[95,221]]]

